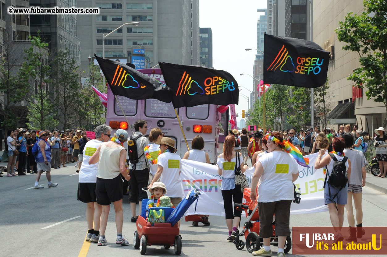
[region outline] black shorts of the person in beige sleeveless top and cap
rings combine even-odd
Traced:
[[[122,178],[120,175],[115,178],[97,178],[96,196],[97,202],[101,205],[110,205],[123,198]]]

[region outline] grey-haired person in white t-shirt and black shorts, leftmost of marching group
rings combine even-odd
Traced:
[[[101,217],[102,206],[97,203],[96,182],[98,162],[89,164],[90,157],[102,144],[110,140],[111,127],[99,125],[95,129],[96,139],[89,140],[83,150],[83,161],[79,169],[78,200],[85,202],[87,236],[86,241],[97,243],[99,238],[99,218]],[[93,226],[94,223],[94,226]]]

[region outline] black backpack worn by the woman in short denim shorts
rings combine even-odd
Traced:
[[[342,188],[346,187],[348,183],[348,176],[346,174],[346,166],[345,166],[345,163],[348,157],[344,156],[344,158],[341,161],[339,161],[336,159],[334,154],[330,153],[329,155],[333,159],[333,169],[329,175],[328,184],[334,188],[340,188],[341,190]],[[328,169],[327,169],[327,173],[325,174],[324,188],[325,188],[325,183],[327,182],[327,177],[328,177]],[[328,187],[328,189],[329,189],[329,197],[330,197],[330,188]],[[333,201],[333,199],[339,194],[340,190],[330,200]]]

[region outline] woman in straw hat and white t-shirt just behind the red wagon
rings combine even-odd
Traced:
[[[176,207],[184,197],[182,179],[180,178],[182,159],[176,154],[175,140],[163,137],[156,144],[160,145],[162,154],[157,159],[157,172],[148,189],[160,179],[160,182],[163,182],[168,190],[165,195],[170,197],[173,206]]]

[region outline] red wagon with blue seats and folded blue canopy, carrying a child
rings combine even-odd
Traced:
[[[193,202],[199,198],[199,189],[191,190],[187,196],[176,206],[171,207],[152,207],[152,210],[164,210],[165,223],[154,223],[153,225],[147,221],[146,204],[149,199],[142,200],[142,210],[139,218],[136,221],[137,230],[134,231],[134,248],[140,249],[140,254],[146,254],[146,247],[152,245],[163,245],[165,249],[171,246],[175,247],[175,254],[182,253],[182,236],[177,222],[183,218],[183,215],[188,210]],[[195,206],[196,211],[196,206]]]

